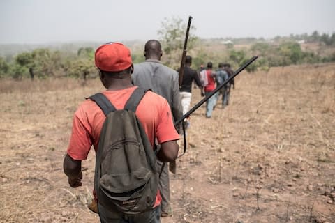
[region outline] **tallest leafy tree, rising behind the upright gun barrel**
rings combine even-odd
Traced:
[[[180,66],[181,56],[184,49],[184,40],[186,35],[187,24],[179,17],[172,17],[170,19],[165,18],[161,22],[161,29],[157,31],[160,36],[163,51],[163,62],[172,68],[178,68]],[[188,52],[195,46],[195,41],[198,39],[193,35],[195,26],[191,25],[190,33],[188,34]]]

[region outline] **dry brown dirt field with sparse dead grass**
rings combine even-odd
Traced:
[[[99,222],[62,163],[77,106],[102,86],[0,80],[0,222]],[[193,89],[192,104],[200,100]],[[241,73],[230,105],[191,116],[171,174],[172,222],[335,222],[335,64]]]

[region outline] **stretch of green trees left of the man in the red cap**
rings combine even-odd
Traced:
[[[0,57],[0,77],[45,79],[47,77],[76,77],[86,79],[94,73],[94,49],[82,47],[77,54],[52,51],[47,48],[22,52],[5,59]]]

